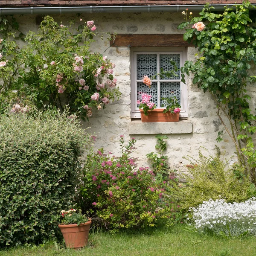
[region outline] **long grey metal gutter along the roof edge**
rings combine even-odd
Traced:
[[[235,4],[228,5],[229,8]],[[225,4],[213,4],[215,11],[223,11]],[[255,5],[254,5],[255,6]],[[186,8],[201,11],[204,5],[162,5],[162,6],[65,6],[65,7],[13,7],[0,8],[0,15],[15,14],[66,14],[66,13],[122,13],[122,12],[182,12]]]

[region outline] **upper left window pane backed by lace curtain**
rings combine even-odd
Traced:
[[[157,54],[137,54],[137,80],[157,74]]]

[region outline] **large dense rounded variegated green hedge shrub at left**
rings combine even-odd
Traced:
[[[73,203],[79,156],[88,140],[73,116],[0,118],[0,246],[55,235],[52,216]]]

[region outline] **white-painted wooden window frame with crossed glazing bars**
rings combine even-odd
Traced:
[[[186,48],[185,47],[138,47],[131,49],[131,118],[139,119],[140,111],[137,107],[137,82],[142,82],[142,80],[137,80],[137,54],[157,54],[157,63],[159,63],[159,55],[160,54],[180,54],[180,67],[184,66],[186,61]],[[157,67],[157,73],[160,72],[159,66]],[[186,77],[185,77],[185,80]],[[160,80],[159,76],[157,80],[152,80],[152,82],[157,82],[157,88],[160,88],[161,82],[180,82],[180,117],[187,118],[188,117],[188,92],[187,92],[187,81],[186,84],[181,82],[180,79],[167,79]],[[160,90],[157,90],[157,98],[160,98]]]

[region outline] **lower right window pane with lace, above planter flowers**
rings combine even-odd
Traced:
[[[176,96],[180,103],[180,82],[160,82],[160,106],[161,98]]]

